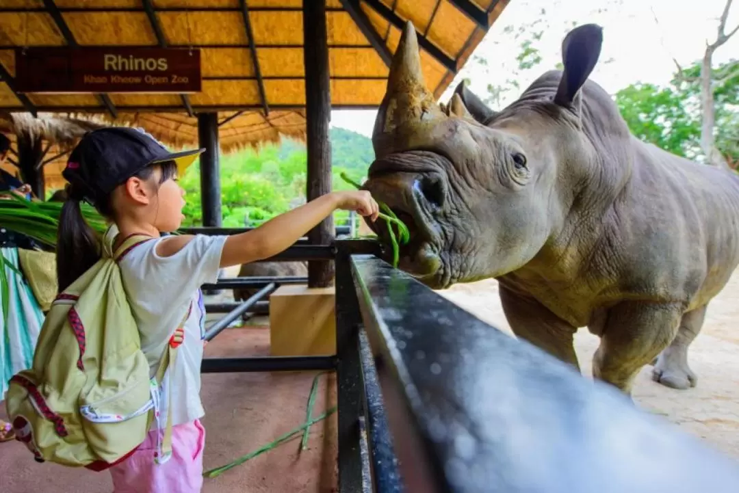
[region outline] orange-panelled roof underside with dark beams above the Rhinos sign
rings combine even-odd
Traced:
[[[57,8],[51,10],[45,3],[50,2],[0,0],[0,74],[7,70],[11,77],[10,86],[0,83],[0,111],[165,113],[187,106],[194,112],[278,111],[305,105],[301,0],[54,0]],[[148,4],[153,4],[149,12]],[[248,6],[246,15],[242,4]],[[440,97],[506,4],[508,0],[327,0],[333,107],[379,105],[406,20],[418,30],[426,83]],[[66,38],[64,32],[69,32]],[[74,43],[199,48],[202,91],[188,97],[109,94],[112,106],[95,94],[27,94],[24,104],[11,89],[13,48]]]

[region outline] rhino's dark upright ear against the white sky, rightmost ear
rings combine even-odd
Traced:
[[[572,106],[580,88],[598,63],[603,45],[603,28],[583,24],[568,32],[562,41],[562,79],[554,97],[559,106]]]

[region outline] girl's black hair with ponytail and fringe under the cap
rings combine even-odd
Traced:
[[[162,170],[158,185],[162,185],[177,174],[175,162],[166,161],[149,165],[132,177],[148,180],[157,166]],[[95,209],[104,218],[109,220],[113,218],[110,194],[91,197],[87,190],[78,190],[77,187],[69,184],[64,188],[64,191],[67,193],[67,200],[64,201],[64,205],[61,207],[56,242],[56,277],[59,283],[59,292],[67,289],[70,284],[75,282],[78,277],[83,275],[101,258],[100,238],[82,216],[81,201],[91,200],[95,205]]]

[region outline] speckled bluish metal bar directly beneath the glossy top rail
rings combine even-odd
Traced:
[[[398,469],[392,434],[382,401],[382,390],[377,369],[372,357],[364,328],[359,331],[359,356],[362,365],[362,387],[364,387],[364,413],[369,427],[369,455],[372,461],[372,478],[375,490],[383,493],[406,491]]]

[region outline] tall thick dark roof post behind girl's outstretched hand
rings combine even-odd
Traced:
[[[331,191],[331,83],[329,79],[326,0],[303,2],[303,63],[305,66],[305,114],[307,130],[307,200]],[[327,245],[334,240],[333,216],[308,232],[313,245]],[[333,285],[333,261],[308,262],[308,287]],[[341,418],[340,418],[341,419]],[[339,432],[339,454],[341,431]],[[339,479],[341,485],[341,478]],[[341,487],[339,488],[341,489]]]

